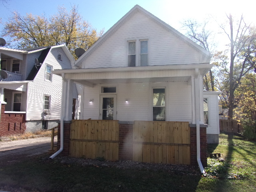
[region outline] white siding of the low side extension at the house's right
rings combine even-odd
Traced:
[[[208,98],[209,107],[209,125],[206,132],[207,134],[220,134],[218,94],[207,94],[207,92],[204,92],[204,98]]]

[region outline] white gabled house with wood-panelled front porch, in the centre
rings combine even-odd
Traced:
[[[203,171],[206,134],[218,134],[219,93],[203,92],[210,58],[208,51],[134,6],[76,60],[79,69],[53,71],[64,77],[64,90],[75,82],[83,94],[80,121],[72,121],[71,106],[62,103],[60,150],[52,158],[62,152],[198,163]],[[72,90],[66,91],[66,100],[71,97]]]

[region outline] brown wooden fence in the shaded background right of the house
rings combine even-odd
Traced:
[[[237,120],[220,119],[220,131],[228,133],[242,133],[243,128],[240,124],[238,124]]]

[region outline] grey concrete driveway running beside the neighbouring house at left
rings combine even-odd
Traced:
[[[50,137],[0,142],[0,157],[21,154],[26,156],[39,155],[48,152],[50,146]]]

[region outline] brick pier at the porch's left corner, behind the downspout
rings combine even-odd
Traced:
[[[57,149],[60,149],[60,123],[58,123]],[[63,150],[60,154],[68,156],[70,146],[70,123],[64,123]]]

